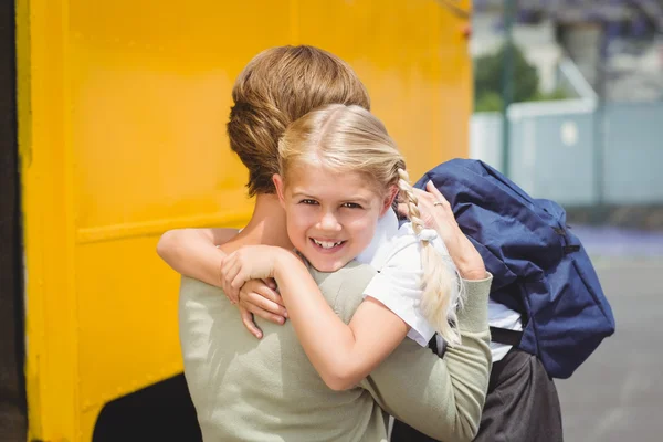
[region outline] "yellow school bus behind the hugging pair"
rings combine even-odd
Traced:
[[[470,0],[1,3],[2,441],[199,438],[155,246],[249,218],[225,122],[260,51],[349,62],[413,178],[467,152]]]

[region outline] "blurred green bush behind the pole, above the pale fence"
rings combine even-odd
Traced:
[[[475,112],[502,110],[502,75],[504,72],[505,46],[490,55],[480,56],[474,61],[474,109]],[[549,94],[539,91],[539,77],[536,67],[527,62],[523,51],[514,45],[512,61],[513,98],[514,103],[564,99],[564,91],[557,90]]]

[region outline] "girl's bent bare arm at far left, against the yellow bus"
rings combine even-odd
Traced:
[[[177,229],[164,233],[157,253],[176,272],[221,287],[219,264],[225,253],[217,249],[238,234],[236,229]]]

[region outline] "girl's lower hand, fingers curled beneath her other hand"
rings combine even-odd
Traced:
[[[248,281],[240,290],[240,315],[244,327],[256,338],[262,338],[261,329],[253,320],[254,315],[274,324],[284,324],[287,317],[281,295],[274,291],[275,284],[261,280]]]

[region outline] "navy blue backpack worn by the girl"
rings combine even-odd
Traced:
[[[478,160],[443,162],[415,187],[429,180],[493,274],[491,297],[523,315],[523,334],[513,344],[536,355],[549,376],[570,377],[614,333],[614,317],[564,209],[530,198]],[[493,339],[502,341],[495,332]]]

